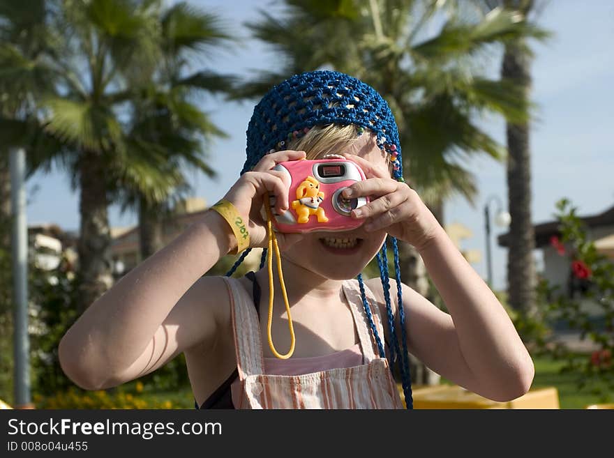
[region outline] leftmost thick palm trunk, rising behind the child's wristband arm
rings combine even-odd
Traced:
[[[84,151],[78,165],[81,199],[79,253],[80,313],[112,285],[111,232],[107,215],[105,163],[98,153]]]

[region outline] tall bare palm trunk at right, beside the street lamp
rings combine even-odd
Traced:
[[[523,42],[505,48],[501,75],[531,89],[530,56]],[[507,124],[507,187],[511,215],[507,280],[509,304],[514,310],[535,312],[535,236],[531,217],[531,158],[529,124]]]

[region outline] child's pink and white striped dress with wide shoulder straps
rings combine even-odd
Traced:
[[[265,360],[253,299],[238,280],[225,277],[225,282],[231,298],[234,346],[239,372],[239,380],[232,386],[235,408],[403,409],[388,361],[377,356],[377,345],[368,326],[357,280],[343,282],[343,292],[350,304],[354,326],[359,335],[357,345],[362,349],[362,356],[357,357],[357,346],[338,352],[336,358],[339,353],[347,353],[344,357],[350,366],[331,369],[326,368],[326,357],[294,358],[290,365],[273,362],[272,358]],[[368,302],[375,304],[375,298],[368,289],[366,294]],[[377,333],[383,337],[379,310],[377,307],[373,309],[371,311],[374,312],[372,315]],[[292,358],[284,362],[288,361],[292,361]],[[315,362],[324,364],[320,365],[320,370],[316,372],[304,373],[306,369],[313,369]],[[282,365],[284,369],[278,371]],[[274,371],[283,373],[272,374]]]

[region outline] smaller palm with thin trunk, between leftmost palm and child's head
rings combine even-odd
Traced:
[[[173,207],[169,199],[177,201],[190,190],[181,165],[215,176],[204,158],[211,139],[225,133],[191,100],[203,93],[228,93],[234,77],[207,70],[188,75],[187,70],[190,60],[207,58],[230,41],[218,17],[187,3],[175,4],[160,18],[162,56],[148,86],[137,88],[128,137],[134,154],[166,158],[167,181],[150,183],[143,174],[121,179],[122,211],[131,207],[138,213],[141,259],[163,246],[163,221]]]

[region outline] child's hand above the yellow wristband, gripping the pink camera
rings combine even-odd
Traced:
[[[264,155],[253,170],[241,175],[237,183],[234,183],[224,196],[224,199],[230,201],[241,216],[249,221],[250,247],[267,247],[269,241],[267,221],[260,214],[266,193],[269,192],[270,195],[276,197],[275,213],[281,214],[288,209],[290,178],[281,171],[271,169],[280,162],[304,159],[305,155],[304,151],[290,150]],[[280,250],[284,250],[303,238],[302,234],[280,232],[276,232],[275,236]]]

